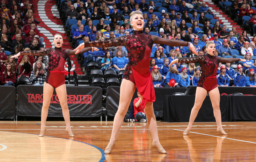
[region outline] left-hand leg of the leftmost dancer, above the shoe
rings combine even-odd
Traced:
[[[51,102],[53,90],[54,88],[50,84],[46,82],[44,83],[44,100],[41,112],[41,131],[45,130],[45,122],[48,115],[48,109]]]

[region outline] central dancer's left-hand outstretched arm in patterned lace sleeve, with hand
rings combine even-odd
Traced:
[[[76,49],[75,54],[79,53],[84,47],[112,47],[112,46],[125,46],[127,43],[127,36],[117,37],[115,39],[110,40],[95,40],[91,42],[83,42]]]

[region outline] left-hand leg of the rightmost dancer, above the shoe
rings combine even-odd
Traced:
[[[199,109],[201,108],[206,95],[207,95],[206,89],[201,88],[201,87],[196,88],[195,104],[190,113],[189,123],[188,123],[188,127],[187,127],[188,130],[191,129],[192,124],[194,123],[194,121],[196,119],[197,113],[198,113]]]

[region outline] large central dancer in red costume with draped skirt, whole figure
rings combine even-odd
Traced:
[[[115,138],[121,128],[124,116],[128,110],[132,96],[137,87],[141,95],[142,106],[145,109],[147,116],[147,124],[153,138],[152,146],[156,147],[160,153],[166,153],[164,148],[159,143],[156,118],[153,110],[153,102],[155,101],[155,91],[153,88],[152,77],[150,73],[150,53],[153,43],[164,44],[168,46],[188,46],[188,42],[179,40],[168,40],[158,36],[151,36],[143,34],[143,15],[141,11],[133,11],[130,17],[131,25],[133,27],[133,34],[128,36],[121,36],[111,40],[98,40],[92,42],[84,42],[80,44],[75,50],[76,53],[84,47],[111,47],[111,46],[125,46],[128,51],[129,63],[125,69],[122,84],[120,87],[120,101],[118,111],[115,114],[112,135],[108,146],[105,148],[105,154],[110,154],[112,148],[115,146]],[[193,44],[189,48],[196,53]]]

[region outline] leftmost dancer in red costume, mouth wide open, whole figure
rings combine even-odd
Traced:
[[[55,48],[46,48],[40,51],[25,51],[19,52],[17,55],[12,56],[17,58],[20,55],[27,56],[38,56],[38,55],[48,55],[49,56],[49,69],[47,71],[47,76],[44,83],[44,101],[42,106],[41,113],[41,132],[39,137],[43,137],[46,131],[45,122],[48,115],[48,108],[50,105],[51,97],[53,90],[55,88],[56,93],[58,95],[60,105],[62,108],[63,117],[66,123],[66,132],[70,137],[74,137],[71,127],[70,127],[70,116],[67,104],[67,90],[65,84],[65,75],[68,74],[67,71],[64,71],[64,65],[69,55],[74,55],[75,52],[69,49],[61,49],[63,39],[60,34],[56,34],[53,40],[55,44]],[[82,49],[79,53],[87,52],[89,50],[96,50],[98,48],[89,47]]]

